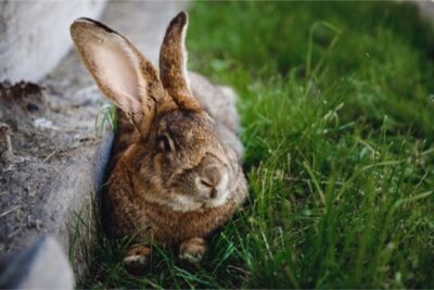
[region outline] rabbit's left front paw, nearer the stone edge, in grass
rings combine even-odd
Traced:
[[[127,270],[133,275],[143,275],[151,259],[151,247],[132,247],[124,257]]]

